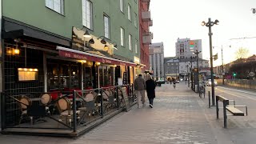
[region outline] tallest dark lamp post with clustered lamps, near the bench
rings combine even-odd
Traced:
[[[218,19],[216,19],[214,22],[210,21],[210,18],[208,18],[208,22],[202,22],[202,26],[209,27],[209,39],[210,39],[210,79],[211,79],[211,94],[213,97],[213,106],[215,106],[215,95],[214,95],[214,66],[213,66],[213,50],[212,50],[212,39],[211,36],[213,33],[211,32],[211,26],[218,25]]]

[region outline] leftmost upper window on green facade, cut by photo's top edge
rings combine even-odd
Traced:
[[[46,7],[56,11],[59,14],[64,14],[63,0],[46,0]]]

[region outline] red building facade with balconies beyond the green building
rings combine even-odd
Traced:
[[[139,0],[139,43],[140,61],[145,67],[142,72],[150,70],[149,45],[153,39],[150,26],[153,26],[150,14],[150,0]]]

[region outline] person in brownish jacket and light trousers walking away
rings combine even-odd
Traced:
[[[134,90],[137,95],[138,108],[141,108],[141,101],[142,105],[145,106],[146,82],[142,78],[142,74],[138,74],[138,78],[134,80]]]

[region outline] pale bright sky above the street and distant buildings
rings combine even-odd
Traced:
[[[219,21],[212,26],[213,54],[218,53],[214,66],[221,65],[221,47],[224,64],[236,59],[239,47],[248,49],[249,55],[256,54],[256,14],[252,8],[256,8],[256,0],[151,0],[152,42],[163,42],[165,57],[172,57],[178,38],[202,39],[202,58],[210,59],[209,28],[201,23],[211,18]]]

